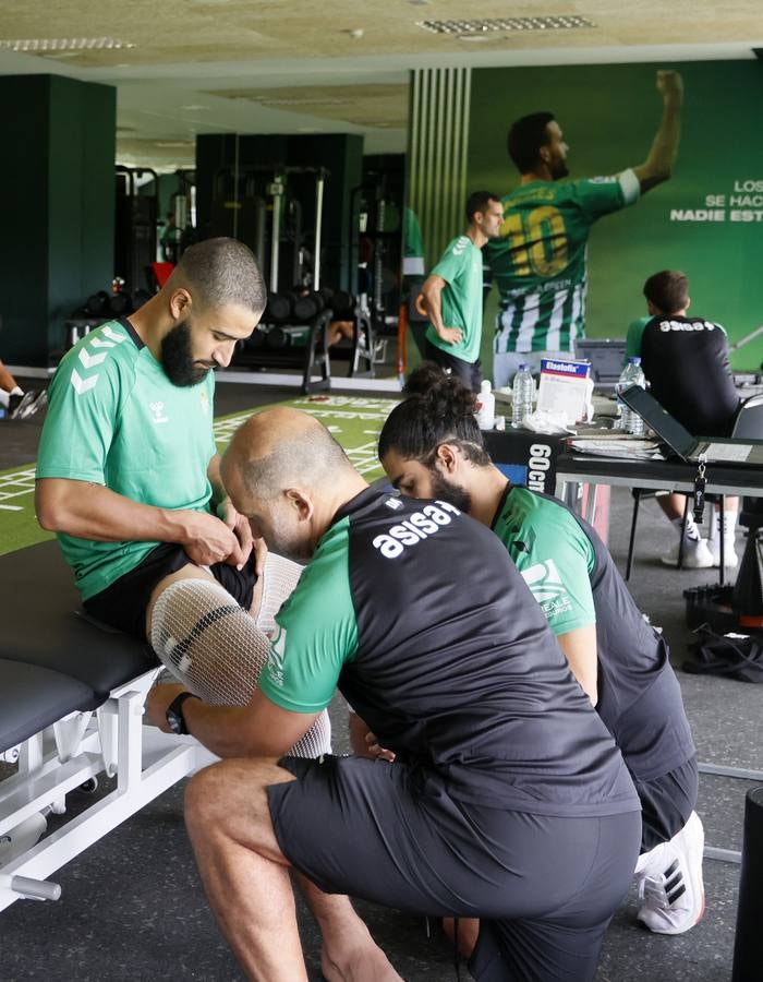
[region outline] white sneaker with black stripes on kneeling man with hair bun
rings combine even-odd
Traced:
[[[697,812],[670,839],[640,858],[639,921],[655,934],[683,934],[705,912],[702,854],[705,834]]]

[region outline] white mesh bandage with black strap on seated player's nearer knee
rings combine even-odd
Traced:
[[[189,692],[223,706],[249,703],[270,650],[254,619],[208,579],[179,579],[160,594],[152,645]],[[331,724],[324,710],[290,753],[318,757],[330,751]]]

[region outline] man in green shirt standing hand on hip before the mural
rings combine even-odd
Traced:
[[[427,359],[449,369],[473,392],[480,392],[482,382],[482,247],[498,235],[502,217],[496,194],[470,194],[469,228],[448,244],[420,294],[421,312],[429,319]]]

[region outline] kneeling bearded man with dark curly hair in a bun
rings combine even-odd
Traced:
[[[557,499],[513,487],[491,463],[471,393],[427,366],[407,390],[379,436],[385,470],[403,495],[449,501],[506,546],[631,771],[642,804],[639,920],[662,934],[688,931],[704,910],[704,834],[695,749],[665,639],[594,529]],[[360,722],[353,746],[363,753]],[[373,742],[371,751],[380,754]]]

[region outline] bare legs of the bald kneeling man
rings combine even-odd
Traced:
[[[185,822],[209,903],[252,980],[306,979],[288,862],[276,840],[269,785],[293,780],[275,761],[225,761],[199,771],[185,798]],[[324,935],[329,982],[401,982],[347,897],[300,877]]]

